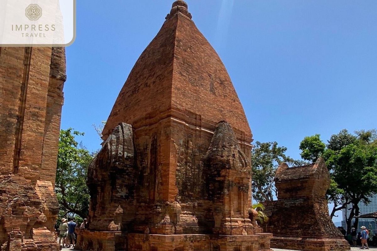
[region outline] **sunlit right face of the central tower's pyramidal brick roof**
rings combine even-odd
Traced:
[[[192,20],[176,15],[167,22],[171,21],[177,23],[172,108],[199,114],[215,125],[227,120],[251,137],[244,109],[216,51]]]

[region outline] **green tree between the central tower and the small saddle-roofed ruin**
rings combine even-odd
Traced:
[[[261,143],[256,141],[251,152],[253,168],[253,198],[257,201],[273,201],[276,196],[274,177],[277,166],[282,162],[288,165],[305,164],[285,155],[287,148],[277,142]]]

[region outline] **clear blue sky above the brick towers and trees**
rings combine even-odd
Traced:
[[[101,142],[92,124],[107,119],[172,3],[77,1],[61,128],[85,132],[89,151]],[[307,135],[377,127],[377,1],[187,3],[227,67],[254,140],[277,141],[300,158]]]

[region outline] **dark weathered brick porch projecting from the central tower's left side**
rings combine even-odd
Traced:
[[[88,170],[90,230],[127,230],[136,213],[134,164],[132,127],[121,123],[104,142]]]

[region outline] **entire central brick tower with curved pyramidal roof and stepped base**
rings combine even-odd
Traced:
[[[120,91],[89,168],[79,250],[270,250],[250,209],[250,127],[191,18],[173,3]]]

